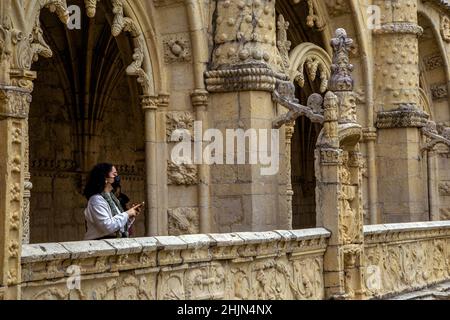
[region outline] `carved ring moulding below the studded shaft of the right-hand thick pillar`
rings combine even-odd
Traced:
[[[428,118],[416,105],[404,104],[396,110],[378,112],[377,128],[422,128]]]

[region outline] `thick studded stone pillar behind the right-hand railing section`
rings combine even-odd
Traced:
[[[420,131],[428,116],[419,110],[418,0],[374,1],[381,28],[374,31],[379,207],[382,222],[426,219]]]

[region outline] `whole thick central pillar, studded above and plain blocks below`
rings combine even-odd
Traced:
[[[264,129],[270,143],[272,122],[277,115],[272,92],[278,81],[287,80],[277,47],[275,1],[215,2],[214,50],[210,70],[206,72],[206,89],[211,93],[210,127],[219,129],[224,138],[227,129],[256,130],[258,138],[263,134],[259,130]],[[258,143],[253,141],[253,147]],[[284,146],[284,136],[276,143],[279,150],[284,149],[279,148]],[[246,164],[215,164],[210,168],[215,231],[278,228],[287,214],[286,196],[278,191],[278,170],[274,174],[261,174],[265,166],[259,156],[266,149],[252,153],[247,143],[241,151],[245,153]],[[224,148],[223,154],[217,155],[226,161],[227,153],[232,150]],[[257,163],[249,163],[249,157],[255,155]]]

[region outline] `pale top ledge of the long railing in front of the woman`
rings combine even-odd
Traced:
[[[331,233],[323,228],[108,239],[24,245],[25,281],[65,276],[71,260],[83,274],[175,266],[179,263],[268,257],[324,251]]]

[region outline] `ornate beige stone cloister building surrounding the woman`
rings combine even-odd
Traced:
[[[450,281],[449,84],[443,0],[1,0],[0,300]],[[175,163],[194,123],[279,130],[277,173]],[[103,161],[146,210],[132,238],[82,241]]]

